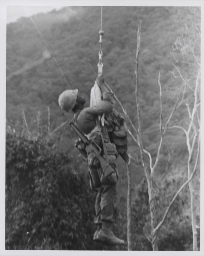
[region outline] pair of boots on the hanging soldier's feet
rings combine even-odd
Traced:
[[[102,229],[97,234],[97,240],[103,243],[104,245],[124,245],[125,242],[117,238],[111,231],[111,223],[103,222]]]

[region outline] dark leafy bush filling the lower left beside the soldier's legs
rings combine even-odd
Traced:
[[[49,140],[6,132],[7,250],[107,250],[93,242],[95,197],[77,169]]]

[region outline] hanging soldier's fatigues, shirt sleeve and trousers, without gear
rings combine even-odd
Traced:
[[[96,126],[96,117],[103,113],[108,114],[113,110],[114,99],[113,94],[103,93],[103,101],[92,107],[83,108],[77,115],[75,125],[84,133],[89,134]],[[101,135],[98,132],[95,143],[102,147]],[[97,192],[96,195],[96,217],[94,222],[102,224],[102,222],[113,222],[113,208],[116,197],[116,183],[118,180],[117,165],[112,164],[115,172],[103,177],[103,170],[97,158],[91,159],[92,155],[88,155],[89,175],[91,188]]]

